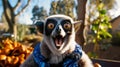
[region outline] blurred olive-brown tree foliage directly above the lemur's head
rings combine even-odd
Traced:
[[[52,14],[65,14],[74,18],[74,0],[58,0],[51,3],[50,15]]]

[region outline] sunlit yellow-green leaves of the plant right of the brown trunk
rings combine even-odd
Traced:
[[[112,26],[109,22],[109,17],[106,15],[106,10],[104,9],[104,4],[98,4],[97,11],[99,16],[92,23],[92,31],[93,31],[93,43],[95,44],[106,44],[103,43],[106,39],[111,39],[112,35],[108,31]],[[110,43],[111,41],[106,41]],[[94,47],[96,48],[96,47]]]

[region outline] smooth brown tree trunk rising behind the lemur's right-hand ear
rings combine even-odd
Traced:
[[[86,3],[87,0],[77,0],[78,1],[78,8],[77,8],[77,15],[78,15],[78,20],[82,20],[82,23],[80,25],[79,30],[76,33],[76,41],[79,43],[81,46],[84,45],[84,36],[83,36],[83,31],[84,31],[84,23],[85,23],[85,13],[86,13]]]

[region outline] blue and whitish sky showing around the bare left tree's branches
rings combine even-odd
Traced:
[[[12,6],[14,6],[17,2],[17,0],[9,0],[10,3],[12,4]],[[30,3],[30,5],[28,6],[28,8],[25,10],[25,12],[23,14],[20,15],[19,17],[19,22],[21,22],[22,24],[32,24],[32,9],[35,5],[38,5],[39,7],[43,6],[46,10],[47,13],[49,13],[49,8],[50,8],[50,3],[53,0],[32,0],[32,3]],[[22,1],[22,6],[24,6],[26,4],[27,0]],[[3,7],[2,5],[2,0],[0,0],[0,19],[3,13]]]

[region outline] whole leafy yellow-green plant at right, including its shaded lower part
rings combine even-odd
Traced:
[[[97,53],[100,49],[105,49],[111,42],[112,35],[109,30],[112,28],[110,17],[104,9],[104,4],[100,1],[96,6],[96,13],[98,16],[91,21],[92,42],[94,43],[93,51]]]

